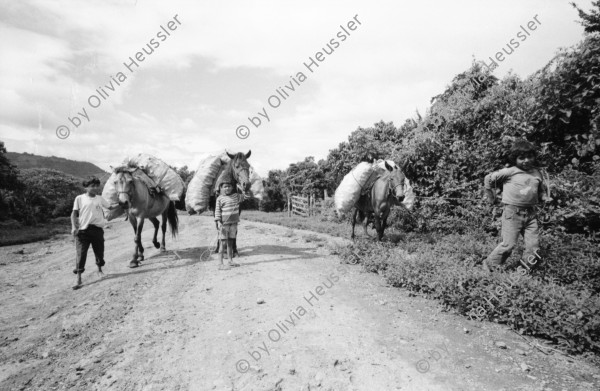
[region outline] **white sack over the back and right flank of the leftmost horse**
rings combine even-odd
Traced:
[[[171,201],[179,201],[181,198],[185,183],[175,170],[159,158],[140,153],[136,157],[125,158],[123,165],[141,168]]]

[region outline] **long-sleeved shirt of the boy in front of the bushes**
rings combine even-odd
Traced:
[[[523,171],[518,167],[509,167],[486,175],[484,184],[488,190],[492,184],[502,184],[502,203],[530,207],[537,205],[540,195],[544,195],[542,174],[533,168]]]

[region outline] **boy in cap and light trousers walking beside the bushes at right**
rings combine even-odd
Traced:
[[[512,166],[488,174],[485,177],[485,193],[488,201],[494,204],[496,194],[494,188],[502,186],[502,243],[500,243],[483,261],[484,270],[503,265],[512,253],[519,234],[525,241],[523,258],[530,264],[539,258],[539,229],[537,221],[537,204],[549,201],[545,194],[545,184],[535,167],[536,151],[533,144],[526,140],[517,140],[510,154]]]

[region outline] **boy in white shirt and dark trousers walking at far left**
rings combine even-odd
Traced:
[[[77,265],[73,273],[77,274],[77,287],[81,286],[81,273],[85,271],[87,252],[92,245],[96,256],[98,271],[104,266],[104,212],[102,207],[115,209],[118,205],[110,205],[100,192],[100,180],[96,177],[83,182],[85,193],[78,195],[73,203],[71,213],[71,233],[75,236],[77,249]]]

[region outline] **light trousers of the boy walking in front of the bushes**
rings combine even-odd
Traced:
[[[502,212],[502,243],[487,257],[489,266],[504,264],[517,245],[519,234],[525,240],[523,259],[536,257],[539,249],[539,228],[537,222],[537,209],[535,206],[522,208],[514,205],[505,205]]]

